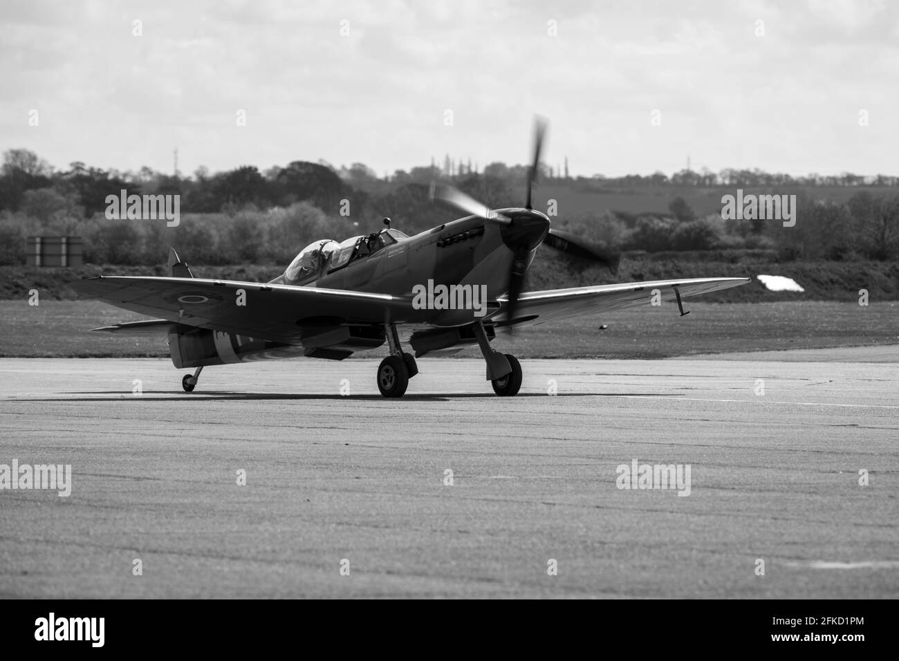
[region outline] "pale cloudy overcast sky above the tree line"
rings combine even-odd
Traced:
[[[671,174],[688,156],[697,171],[899,174],[897,10],[3,0],[0,148],[58,168],[171,172],[177,146],[186,174],[324,158],[382,175],[446,153],[523,163],[540,113],[547,164],[568,156],[572,174]]]

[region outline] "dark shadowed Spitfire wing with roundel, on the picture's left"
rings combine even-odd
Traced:
[[[428,313],[403,297],[263,282],[99,276],[71,286],[85,297],[162,317],[138,322],[147,332],[167,330],[162,322],[171,322],[288,343],[301,339],[304,326],[417,322]],[[245,305],[238,304],[240,290]]]

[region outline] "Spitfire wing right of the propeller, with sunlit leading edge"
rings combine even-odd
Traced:
[[[675,290],[681,292],[681,299],[686,299],[690,296],[707,294],[710,291],[737,287],[750,281],[752,278],[697,278],[600,284],[591,287],[575,287],[569,290],[528,291],[522,293],[518,299],[515,317],[521,321],[516,322],[514,326],[535,326],[546,321],[634,308],[640,305],[648,308],[652,302],[654,290],[658,290],[659,299],[662,301],[672,301],[677,299]],[[494,314],[492,320],[499,322],[497,326],[502,328],[504,326],[502,322],[508,321],[504,315],[505,309],[508,308],[508,301],[501,297],[499,303],[500,309]]]

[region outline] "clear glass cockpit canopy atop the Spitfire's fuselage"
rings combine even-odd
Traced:
[[[384,229],[378,234],[350,237],[341,243],[333,239],[315,241],[303,248],[284,271],[288,284],[307,284],[326,272],[334,272],[353,260],[374,255],[381,248],[408,237],[398,229]]]

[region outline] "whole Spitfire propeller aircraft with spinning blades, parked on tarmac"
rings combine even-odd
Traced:
[[[521,389],[521,364],[491,346],[498,334],[567,317],[676,300],[742,285],[748,278],[702,278],[522,291],[540,246],[617,270],[619,255],[550,227],[531,206],[545,124],[538,121],[523,208],[489,209],[449,186],[432,197],[467,214],[414,237],[391,228],[338,243],[316,241],[271,282],[205,280],[175,253],[169,277],[98,276],[76,281],[82,295],[157,318],[97,331],[168,335],[172,362],[191,392],[208,365],[307,356],[342,361],[387,343],[378,367],[384,397],[402,397],[415,358],[477,344],[486,379],[500,396]],[[427,290],[427,296],[423,292]],[[482,294],[482,296],[478,296]],[[480,299],[480,300],[476,300]],[[408,345],[414,351],[404,351]]]

